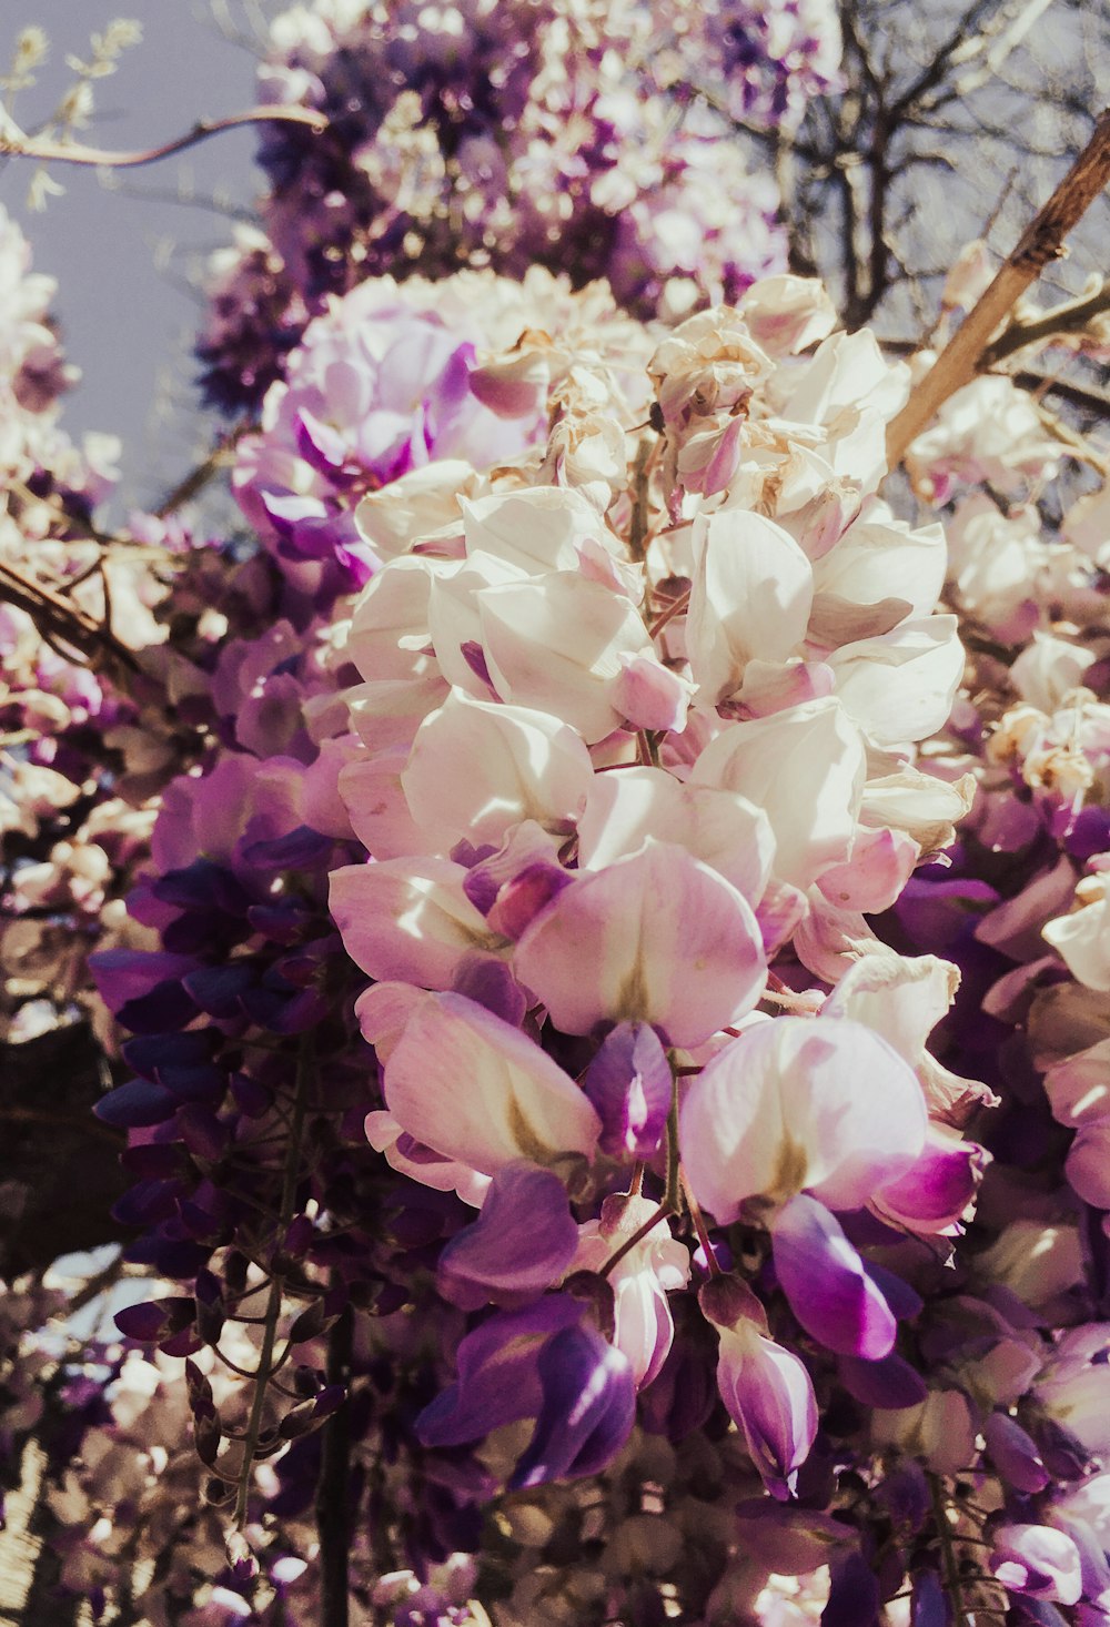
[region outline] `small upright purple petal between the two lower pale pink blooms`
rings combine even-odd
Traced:
[[[671,1111],[671,1064],[648,1023],[622,1022],[586,1069],[583,1090],[601,1116],[610,1157],[651,1158]]]

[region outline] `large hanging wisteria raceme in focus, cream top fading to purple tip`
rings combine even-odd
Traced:
[[[939,532],[872,495],[902,374],[830,322],[791,278],[755,286],[750,327],[747,303],[692,319],[651,361],[646,438],[631,366],[548,361],[545,454],[482,485],[433,462],[355,514],[387,547],[345,635],[340,791],[368,856],[330,908],[376,979],[366,1132],[479,1209],[438,1279],[479,1319],[418,1429],[534,1420],[509,1485],[631,1450],[622,1398],[649,1415],[715,1337],[776,1498],[817,1440],[807,1363],[885,1406],[926,1394],[897,1349],[911,1266],[871,1248],[959,1230],[981,1160],[947,1103],[975,1087],[924,1048],[957,979],[867,916],[967,807],[915,763],[962,652]],[[519,407],[496,364],[477,377]],[[638,436],[638,460],[612,451]],[[721,1276],[737,1225],[754,1287]],[[701,1344],[675,1316],[692,1272]]]

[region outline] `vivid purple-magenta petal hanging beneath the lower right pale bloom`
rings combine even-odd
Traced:
[[[771,1237],[780,1285],[806,1333],[841,1355],[887,1355],[894,1313],[835,1215],[802,1193],[780,1209]]]

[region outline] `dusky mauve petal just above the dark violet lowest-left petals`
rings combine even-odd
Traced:
[[[534,1300],[563,1276],[576,1250],[578,1227],[560,1178],[531,1163],[506,1163],[479,1219],[443,1250],[439,1285],[467,1311],[490,1300]]]

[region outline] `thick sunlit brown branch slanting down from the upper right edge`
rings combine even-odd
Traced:
[[[933,369],[887,430],[887,464],[894,469],[944,402],[975,377],[993,335],[1016,301],[1063,252],[1068,233],[1110,179],[1110,111],[1048,202],[1022,233],[993,283],[942,350]]]

